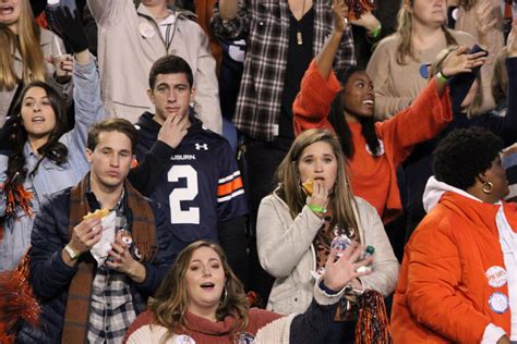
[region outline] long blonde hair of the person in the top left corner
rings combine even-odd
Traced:
[[[21,13],[17,20],[17,36],[0,24],[0,89],[12,90],[17,83],[27,85],[45,81],[45,60],[39,46],[40,30],[34,21],[28,0],[21,0]],[[14,53],[20,51],[23,61],[22,75],[14,70]]]

